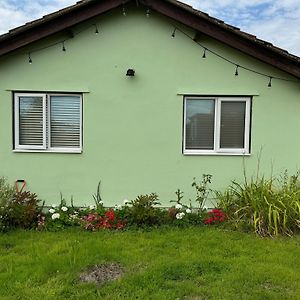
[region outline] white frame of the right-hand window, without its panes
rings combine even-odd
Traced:
[[[214,122],[214,149],[186,149],[186,103],[187,100],[214,100],[215,101],[215,122]],[[245,131],[244,148],[220,148],[220,127],[221,127],[221,105],[222,102],[236,101],[245,102]],[[251,97],[184,97],[183,113],[183,154],[186,155],[249,155],[250,154],[250,119],[251,119]]]

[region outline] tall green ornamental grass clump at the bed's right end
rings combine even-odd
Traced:
[[[300,229],[299,172],[279,178],[246,178],[217,192],[218,205],[236,228],[260,236],[292,235]]]

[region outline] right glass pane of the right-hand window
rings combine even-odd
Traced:
[[[245,101],[222,101],[220,148],[244,148],[245,112]]]

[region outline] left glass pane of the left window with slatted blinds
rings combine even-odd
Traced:
[[[19,98],[19,144],[43,146],[43,97]]]

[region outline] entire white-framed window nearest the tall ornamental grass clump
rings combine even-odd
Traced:
[[[250,98],[185,97],[184,154],[248,154]]]

